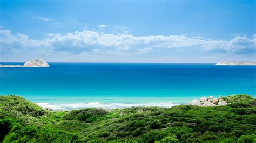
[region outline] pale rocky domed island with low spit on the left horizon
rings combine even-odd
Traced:
[[[25,62],[24,65],[1,65],[0,67],[50,67],[50,65],[42,59],[36,59]]]

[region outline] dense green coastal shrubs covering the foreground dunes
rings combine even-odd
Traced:
[[[255,142],[256,99],[222,98],[226,106],[88,108],[46,111],[0,96],[0,142]]]

